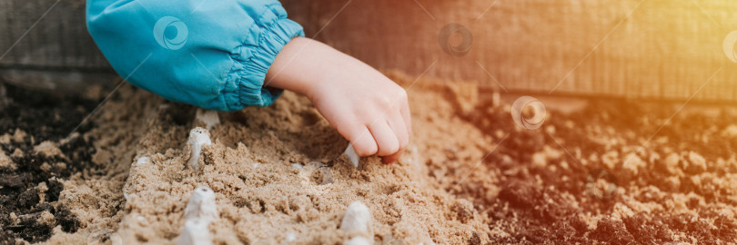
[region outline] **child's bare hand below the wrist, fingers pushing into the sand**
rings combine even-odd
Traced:
[[[407,93],[353,58],[334,67],[310,89],[312,103],[358,155],[397,161],[411,131]]]

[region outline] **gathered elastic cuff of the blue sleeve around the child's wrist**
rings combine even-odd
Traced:
[[[274,103],[283,91],[264,86],[268,67],[292,38],[305,35],[301,25],[286,18],[258,27],[262,28],[262,32],[258,36],[257,45],[244,46],[240,57],[236,58],[242,61],[237,62],[236,66],[239,67],[234,67],[237,70],[238,98],[227,101],[237,101],[239,104],[228,104],[231,111],[240,110],[247,105],[268,106]],[[244,58],[246,59],[242,60]]]

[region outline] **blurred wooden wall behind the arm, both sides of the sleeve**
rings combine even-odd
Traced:
[[[308,37],[380,70],[533,95],[737,100],[737,64],[723,44],[737,30],[730,0],[282,4]],[[82,0],[0,1],[0,78],[71,91],[110,81],[101,79],[115,73],[86,33],[84,8]]]

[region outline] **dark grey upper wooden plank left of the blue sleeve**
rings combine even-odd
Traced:
[[[111,71],[87,34],[85,1],[55,3],[56,0],[0,1],[0,55],[20,40],[0,59],[0,68]],[[48,13],[35,24],[46,10]]]

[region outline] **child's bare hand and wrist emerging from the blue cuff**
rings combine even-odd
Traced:
[[[360,156],[399,159],[412,126],[407,93],[375,69],[308,38],[289,42],[271,64],[267,86],[302,93]]]

